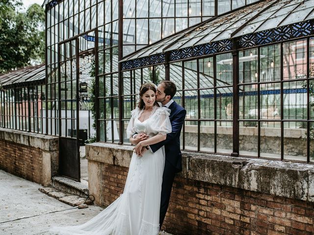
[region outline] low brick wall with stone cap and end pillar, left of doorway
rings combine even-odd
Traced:
[[[0,128],[0,169],[44,186],[58,169],[58,138]]]

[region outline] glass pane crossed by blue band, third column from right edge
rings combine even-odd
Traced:
[[[268,83],[260,85],[262,119],[280,119],[280,83]],[[267,122],[272,123],[272,122]]]

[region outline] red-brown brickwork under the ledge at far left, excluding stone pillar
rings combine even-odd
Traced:
[[[26,145],[0,140],[0,169],[43,184],[42,151]]]

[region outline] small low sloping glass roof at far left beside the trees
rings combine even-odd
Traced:
[[[45,77],[45,65],[41,64],[0,75],[0,85],[5,87],[12,84],[31,83],[36,81],[42,81],[44,83]]]

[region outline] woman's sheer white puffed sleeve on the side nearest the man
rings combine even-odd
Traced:
[[[171,133],[171,123],[169,119],[170,109],[166,107],[160,107],[155,112],[154,122],[152,123],[152,130],[161,135],[167,135]]]

